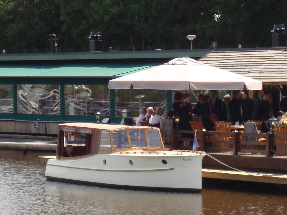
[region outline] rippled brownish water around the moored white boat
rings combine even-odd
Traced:
[[[287,213],[286,196],[219,189],[201,194],[132,191],[46,181],[40,155],[0,151],[0,214]]]

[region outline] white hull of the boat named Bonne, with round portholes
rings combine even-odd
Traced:
[[[101,186],[200,192],[201,161],[202,155],[190,153],[100,154],[75,160],[48,160],[45,175],[50,180]]]

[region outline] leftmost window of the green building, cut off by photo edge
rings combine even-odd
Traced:
[[[13,85],[0,85],[0,113],[13,113]]]

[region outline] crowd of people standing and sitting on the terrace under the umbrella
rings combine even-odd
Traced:
[[[172,110],[167,113],[167,119],[173,119],[174,115],[180,117],[179,130],[192,130],[190,121],[201,117],[203,127],[207,131],[214,130],[214,122],[231,122],[243,124],[249,120],[266,121],[271,117],[277,117],[277,123],[287,124],[287,97],[282,92],[282,99],[279,104],[273,101],[271,93],[263,90],[253,99],[249,98],[247,91],[233,91],[233,96],[225,95],[221,100],[217,97],[217,91],[211,90],[210,96],[198,95],[198,102],[193,108],[189,103],[189,94],[176,92]],[[141,126],[140,122],[149,122],[150,125],[160,129],[164,126],[164,111],[159,107],[142,107],[137,119],[136,126]],[[287,115],[287,114],[286,114]],[[166,121],[168,122],[168,121]],[[168,122],[170,123],[170,122]],[[172,128],[176,128],[173,120]],[[261,131],[268,132],[265,123],[262,123]],[[184,134],[183,138],[192,138],[190,134]]]

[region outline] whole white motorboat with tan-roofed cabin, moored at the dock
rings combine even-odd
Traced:
[[[66,144],[73,145],[73,157],[63,157]],[[59,125],[57,155],[47,161],[45,175],[50,180],[200,192],[203,156],[164,148],[158,128],[66,123]]]

